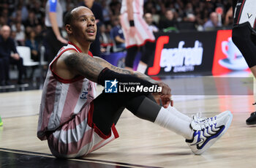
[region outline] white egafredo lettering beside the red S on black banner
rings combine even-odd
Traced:
[[[184,47],[185,42],[178,42],[176,48],[163,48],[160,67],[165,68],[165,72],[187,72],[193,71],[195,65],[202,64],[203,47],[202,43],[195,41],[194,47]]]

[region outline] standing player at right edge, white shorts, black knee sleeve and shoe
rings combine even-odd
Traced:
[[[235,45],[243,54],[246,63],[256,78],[256,1],[254,0],[234,0],[234,26],[232,39]],[[246,120],[248,125],[256,124],[256,112]]]

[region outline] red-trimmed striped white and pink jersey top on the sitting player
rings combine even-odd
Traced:
[[[59,50],[57,56],[50,63],[39,110],[37,137],[40,140],[46,140],[46,131],[58,129],[59,126],[69,121],[73,115],[78,114],[82,108],[89,106],[96,96],[96,83],[82,76],[66,80],[53,71],[53,63],[67,50],[82,52],[69,42],[69,45]],[[89,55],[92,56],[90,52]],[[86,109],[89,110],[89,108]]]

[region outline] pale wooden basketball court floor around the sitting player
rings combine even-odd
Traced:
[[[174,90],[175,88],[173,88]],[[238,88],[239,89],[239,88]],[[246,126],[255,111],[253,95],[173,96],[187,115],[233,113],[227,132],[205,153],[195,156],[183,137],[125,110],[116,128],[119,138],[83,159],[55,159],[46,141],[37,139],[42,91],[0,93],[0,167],[255,167],[256,126]]]

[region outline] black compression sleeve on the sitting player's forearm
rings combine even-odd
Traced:
[[[127,75],[127,74],[120,74],[120,73],[114,72],[108,68],[103,69],[102,72],[99,73],[97,83],[105,86],[105,80],[115,80],[115,79],[121,83],[140,83],[140,85],[143,85],[146,87],[151,87],[152,85],[155,85],[155,84],[150,83],[147,80],[143,80],[139,77],[135,77],[132,75]]]

